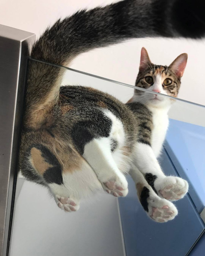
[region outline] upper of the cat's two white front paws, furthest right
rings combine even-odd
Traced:
[[[157,179],[154,186],[159,196],[170,201],[183,198],[189,188],[187,181],[172,176]]]

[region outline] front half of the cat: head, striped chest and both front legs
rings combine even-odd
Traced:
[[[139,126],[130,174],[144,210],[158,222],[171,219],[171,213],[172,218],[177,215],[177,209],[164,199],[183,198],[188,192],[188,183],[179,177],[165,176],[157,162],[168,128],[167,112],[174,100],[149,91],[177,97],[187,57],[182,53],[169,66],[154,65],[146,49],[142,48],[135,86],[147,89],[147,92],[135,90],[126,104]]]

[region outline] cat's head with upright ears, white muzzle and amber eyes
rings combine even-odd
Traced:
[[[187,57],[187,53],[182,53],[169,66],[154,65],[150,61],[146,49],[142,48],[135,86],[177,97]],[[135,90],[133,101],[140,101],[156,107],[165,107],[170,105],[173,100],[159,94]]]

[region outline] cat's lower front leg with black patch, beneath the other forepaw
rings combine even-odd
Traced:
[[[147,215],[156,222],[167,222],[174,219],[178,213],[175,205],[160,198],[137,167],[132,167],[130,175],[135,182],[139,201]]]

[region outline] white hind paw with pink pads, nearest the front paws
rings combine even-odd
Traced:
[[[112,194],[116,197],[126,196],[128,193],[128,184],[125,177],[123,179],[118,178],[116,181],[106,181],[102,186],[108,194]]]

